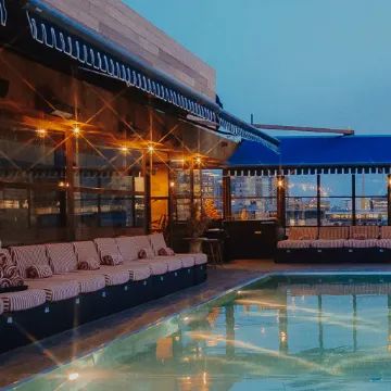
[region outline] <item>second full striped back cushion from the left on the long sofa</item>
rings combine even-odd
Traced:
[[[46,247],[54,274],[77,270],[77,258],[72,243],[47,244]]]

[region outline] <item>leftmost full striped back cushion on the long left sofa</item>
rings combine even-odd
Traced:
[[[11,255],[23,278],[27,278],[28,267],[33,265],[49,265],[45,244],[12,247]]]

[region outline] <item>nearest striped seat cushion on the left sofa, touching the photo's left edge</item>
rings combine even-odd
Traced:
[[[25,311],[45,304],[46,293],[41,289],[27,289],[21,292],[0,293],[4,313]]]

